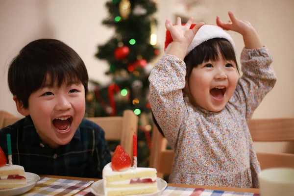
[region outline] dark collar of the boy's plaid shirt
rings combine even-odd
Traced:
[[[78,127],[73,135],[72,141],[80,141],[81,140],[81,132]],[[34,123],[30,116],[25,117],[24,127],[23,127],[23,139],[22,142],[29,143],[42,143],[40,136],[38,135]]]

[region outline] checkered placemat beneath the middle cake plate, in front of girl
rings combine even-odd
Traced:
[[[78,193],[76,196],[94,196],[90,192],[90,188]],[[208,189],[188,189],[180,187],[167,187],[162,196],[259,196],[254,193],[237,193],[228,191],[214,191]]]

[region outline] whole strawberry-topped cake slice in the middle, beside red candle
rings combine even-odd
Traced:
[[[107,164],[102,171],[105,196],[129,196],[157,192],[156,169],[130,166],[129,155],[119,145],[111,163]]]

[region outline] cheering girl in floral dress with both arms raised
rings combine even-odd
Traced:
[[[273,88],[272,58],[254,28],[229,12],[229,23],[192,29],[166,21],[164,55],[152,70],[150,103],[175,155],[170,183],[258,187],[259,162],[247,126]],[[243,35],[243,76],[225,30]],[[169,39],[169,34],[171,38]],[[170,43],[171,42],[171,43]]]

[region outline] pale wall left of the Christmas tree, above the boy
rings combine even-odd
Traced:
[[[30,41],[60,39],[84,60],[89,77],[100,82],[106,62],[94,57],[113,29],[102,26],[108,15],[106,0],[0,0],[0,109],[19,115],[7,85],[11,59]]]

